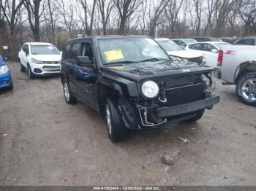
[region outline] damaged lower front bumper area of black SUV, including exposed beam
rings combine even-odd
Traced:
[[[218,103],[219,95],[208,95],[199,101],[176,106],[132,106],[129,101],[121,101],[119,110],[127,128],[155,128],[166,123],[189,120],[198,111],[212,109]]]

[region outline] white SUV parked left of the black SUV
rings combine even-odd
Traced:
[[[60,73],[61,52],[50,43],[26,42],[18,60],[20,71],[28,71],[31,79]]]

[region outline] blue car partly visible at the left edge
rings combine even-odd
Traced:
[[[12,89],[12,77],[7,66],[7,58],[0,55],[0,89]]]

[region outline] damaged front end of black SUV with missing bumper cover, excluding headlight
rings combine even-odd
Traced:
[[[154,81],[159,91],[154,98],[148,98],[138,83],[138,98],[120,98],[119,111],[127,128],[154,128],[167,122],[189,120],[204,109],[212,109],[219,102],[214,95],[212,70],[192,72],[182,69],[180,74],[156,77]]]

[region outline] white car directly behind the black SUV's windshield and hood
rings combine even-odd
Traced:
[[[175,42],[167,38],[157,38],[156,41],[170,56],[176,58],[187,59],[188,61],[205,63],[206,60],[203,58],[203,54],[194,50],[184,50],[178,46]]]

